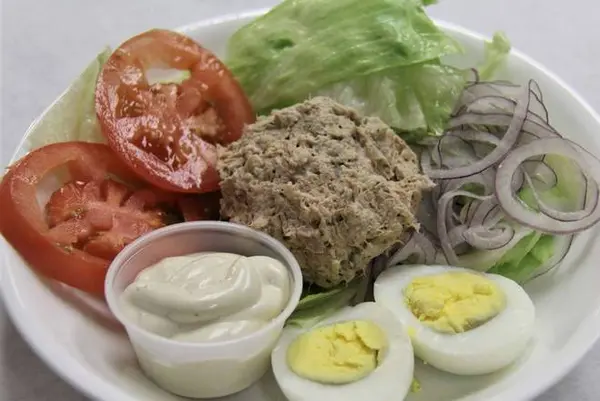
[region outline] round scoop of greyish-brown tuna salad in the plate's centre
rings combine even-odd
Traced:
[[[279,239],[323,288],[362,275],[417,227],[432,186],[389,126],[325,97],[259,118],[219,148],[217,168],[222,216]]]

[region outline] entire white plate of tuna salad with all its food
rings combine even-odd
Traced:
[[[0,184],[36,352],[106,401],[562,377],[600,336],[600,119],[427,3],[285,0],[102,50]]]

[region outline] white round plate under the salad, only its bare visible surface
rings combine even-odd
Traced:
[[[185,27],[182,31],[223,54],[229,35],[260,12],[226,16]],[[481,58],[481,36],[447,23],[439,22],[439,25],[467,50],[455,63],[472,66]],[[522,83],[529,78],[536,79],[553,125],[600,154],[600,119],[572,89],[518,52],[512,53],[503,74],[504,78]],[[13,160],[27,151],[23,143]],[[597,234],[598,228],[595,228],[579,236],[558,271],[527,286],[537,307],[537,334],[535,345],[520,362],[494,375],[470,378],[418,365],[416,377],[423,389],[409,395],[408,400],[525,400],[565,375],[600,337]],[[0,286],[6,308],[23,337],[66,381],[103,401],[183,400],[161,391],[143,376],[124,332],[103,305],[87,302],[82,307],[86,298],[66,287],[41,280],[3,240],[0,245],[4,260]],[[246,392],[221,400],[281,401],[284,398],[268,375]]]

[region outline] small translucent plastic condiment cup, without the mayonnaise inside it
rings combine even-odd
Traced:
[[[291,295],[284,310],[245,337],[209,343],[161,337],[139,327],[122,312],[121,294],[140,271],[166,257],[197,252],[263,255],[281,261],[291,280]],[[219,221],[175,224],[140,237],[115,258],[105,282],[108,306],[125,326],[142,370],[163,389],[192,398],[233,394],[259,380],[270,367],[270,353],[301,292],[300,266],[279,241],[251,228]]]

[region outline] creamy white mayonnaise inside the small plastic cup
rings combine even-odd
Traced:
[[[288,269],[267,256],[198,253],[143,270],[121,296],[138,326],[184,342],[214,342],[255,332],[285,308]]]

